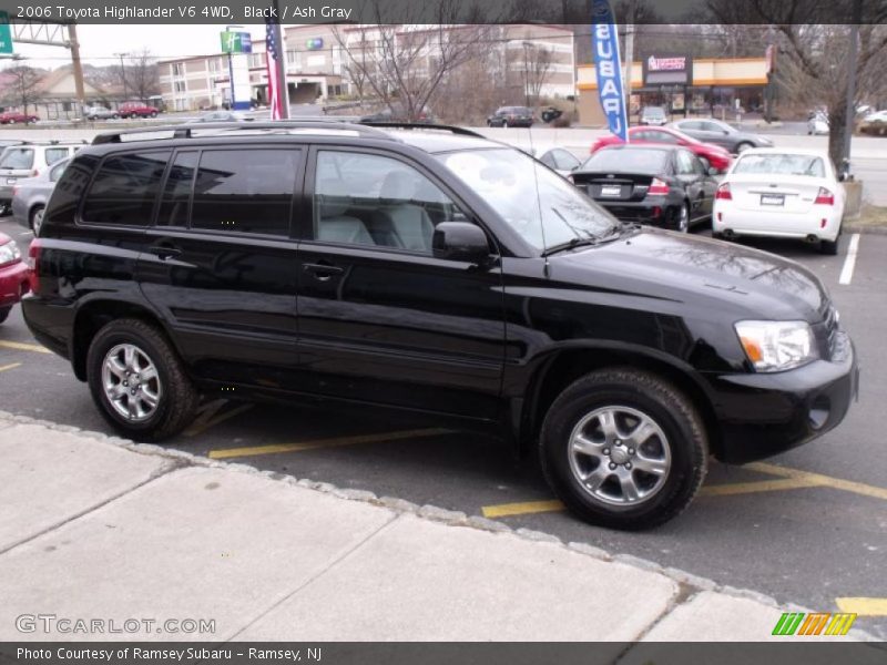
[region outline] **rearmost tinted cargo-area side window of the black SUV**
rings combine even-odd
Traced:
[[[170,154],[166,150],[106,157],[86,194],[83,221],[147,226]]]

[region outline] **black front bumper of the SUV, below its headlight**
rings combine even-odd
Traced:
[[[830,360],[775,374],[706,375],[721,427],[717,459],[744,463],[807,443],[836,428],[859,390],[849,336],[837,334]]]

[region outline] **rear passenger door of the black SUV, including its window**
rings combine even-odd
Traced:
[[[303,150],[279,144],[172,160],[139,279],[202,379],[298,387],[290,223],[303,165]]]

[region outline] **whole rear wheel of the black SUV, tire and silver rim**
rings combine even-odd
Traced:
[[[163,334],[139,319],[104,326],[86,356],[92,398],[105,420],[136,441],[160,441],[192,421],[198,393]]]

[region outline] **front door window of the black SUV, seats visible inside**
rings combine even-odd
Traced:
[[[455,221],[466,217],[412,166],[364,153],[317,154],[315,239],[431,254],[435,226]]]

